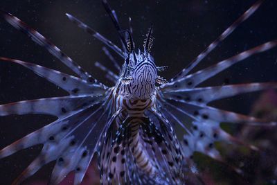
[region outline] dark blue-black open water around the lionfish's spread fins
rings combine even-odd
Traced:
[[[193,60],[208,44],[230,26],[249,8],[252,1],[110,1],[123,28],[132,17],[134,42],[142,49],[143,39],[150,24],[154,25],[152,55],[158,66],[168,66],[160,75],[170,79]],[[100,0],[98,1],[31,1],[1,0],[0,8],[12,13],[37,29],[62,51],[78,62],[101,82],[111,85],[94,62],[108,58],[102,53],[103,46],[64,15],[66,12],[87,23],[112,42],[118,44],[116,31]],[[252,17],[244,22],[220,46],[208,55],[197,69],[208,67],[220,60],[277,38],[277,1],[267,0]],[[119,44],[118,44],[119,45]],[[34,44],[26,35],[0,19],[0,56],[33,62],[35,64],[73,74],[46,50]],[[118,58],[119,60],[120,58]],[[122,62],[122,61],[121,61]],[[277,49],[255,55],[220,73],[204,85],[222,85],[224,81],[277,82]],[[24,67],[0,62],[0,104],[64,96],[66,93],[50,82],[37,77]],[[251,103],[258,94],[240,96],[216,103],[217,107],[244,114],[249,113]],[[51,116],[0,117],[0,148],[20,139],[55,118]],[[12,182],[39,153],[39,148],[18,152],[0,160],[0,184]],[[208,166],[206,166],[208,168]],[[39,171],[33,179],[48,178],[49,166]],[[226,178],[226,183],[231,182]],[[246,182],[247,183],[247,182]]]

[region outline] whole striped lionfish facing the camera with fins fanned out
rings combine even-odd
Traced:
[[[66,16],[123,58],[124,63],[120,67],[105,49],[118,69],[118,74],[96,63],[107,73],[107,78],[114,82],[113,87],[107,87],[93,78],[23,21],[1,11],[1,17],[9,24],[28,35],[78,75],[70,76],[21,60],[0,58],[30,69],[69,94],[0,105],[0,116],[46,114],[57,117],[53,123],[0,150],[0,158],[3,158],[31,146],[43,145],[37,158],[13,184],[20,184],[51,161],[56,163],[49,184],[59,184],[71,171],[75,171],[74,184],[80,184],[95,154],[98,157],[101,184],[185,184],[186,170],[195,170],[193,152],[202,152],[224,162],[214,147],[215,141],[244,144],[253,150],[257,149],[222,130],[220,123],[268,126],[276,123],[217,109],[208,103],[238,94],[276,88],[276,83],[197,86],[233,64],[272,49],[277,45],[277,40],[243,51],[195,73],[190,71],[247,20],[262,0],[254,3],[170,82],[158,75],[166,67],[157,67],[150,54],[154,39],[152,26],[146,35],[143,50],[135,49],[131,19],[129,28],[123,30],[107,0],[102,0],[102,3],[116,27],[121,49],[82,21],[69,14]],[[186,133],[182,139],[177,139],[175,133],[179,126]],[[240,173],[238,168],[233,169]]]

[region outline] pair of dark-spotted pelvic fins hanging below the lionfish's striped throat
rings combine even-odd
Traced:
[[[141,121],[136,122],[139,125],[134,127],[131,123],[133,118],[127,118],[114,134],[114,139],[111,132],[104,142],[103,149],[99,158],[99,168],[102,184],[171,184],[171,178],[168,174],[172,173],[175,168],[173,156],[175,149],[168,135],[163,136],[161,131],[155,126],[159,123],[150,123],[148,118],[140,118]],[[134,142],[134,131],[138,129],[139,144],[143,147],[143,152],[146,152],[145,157],[149,158],[148,163],[153,163],[154,174],[146,173],[143,168],[139,168],[137,163],[141,163],[141,158],[136,156],[136,146]],[[169,132],[168,132],[169,133]],[[168,134],[167,133],[167,134]],[[168,139],[168,141],[166,141]],[[178,151],[179,152],[179,151]],[[140,155],[139,155],[140,156]],[[143,159],[144,160],[144,159]],[[145,160],[144,160],[145,161]],[[181,161],[181,159],[180,159]],[[143,163],[143,162],[142,162]],[[147,163],[147,164],[148,164]],[[146,165],[147,165],[146,164]],[[167,171],[168,173],[165,173]],[[176,172],[176,171],[175,171]],[[178,170],[179,172],[179,170]],[[176,176],[174,176],[176,177]]]

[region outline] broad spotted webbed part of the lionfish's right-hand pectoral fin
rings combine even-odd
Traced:
[[[243,145],[251,150],[258,150],[258,148],[226,133],[220,127],[220,123],[246,123],[274,127],[276,122],[227,112],[207,106],[206,103],[237,94],[271,88],[276,88],[276,85],[274,83],[256,83],[249,85],[226,85],[222,87],[200,87],[180,89],[179,91],[165,91],[163,94],[160,94],[161,98],[158,101],[158,105],[163,116],[169,118],[170,123],[181,125],[187,132],[181,145],[184,161],[186,161],[191,171],[195,171],[192,161],[193,153],[202,152],[226,164],[226,166],[229,166],[229,168],[237,173],[242,173],[242,170],[224,161],[220,152],[214,147],[215,141]],[[202,100],[199,101],[199,98]]]

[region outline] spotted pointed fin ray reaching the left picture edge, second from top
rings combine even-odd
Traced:
[[[66,90],[72,96],[102,96],[105,94],[105,89],[107,89],[104,85],[90,84],[81,78],[76,78],[75,76],[70,76],[66,73],[48,69],[29,62],[1,57],[0,60],[20,64],[32,70],[38,76],[41,76],[42,78],[45,78],[46,80]]]

